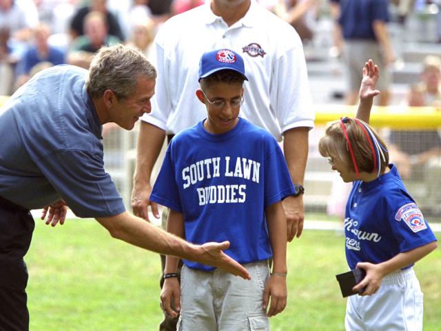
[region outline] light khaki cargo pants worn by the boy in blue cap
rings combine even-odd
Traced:
[[[204,272],[183,266],[181,317],[178,331],[267,331],[263,291],[269,278],[268,262],[248,263],[246,281],[223,270]]]

